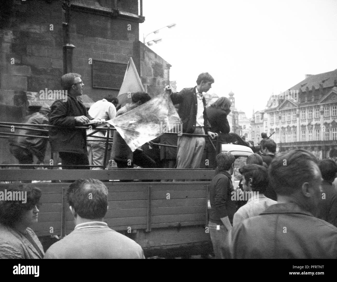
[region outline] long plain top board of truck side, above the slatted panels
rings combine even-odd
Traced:
[[[94,179],[212,179],[213,170],[204,169],[112,169],[112,170],[3,170],[1,180]],[[2,184],[4,185],[4,184]],[[65,185],[65,184],[64,184]]]

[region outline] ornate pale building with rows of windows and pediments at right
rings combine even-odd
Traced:
[[[337,157],[337,69],[306,75],[289,91],[272,95],[252,126],[258,119],[267,134],[275,132],[271,138],[278,151],[304,149],[319,159]]]

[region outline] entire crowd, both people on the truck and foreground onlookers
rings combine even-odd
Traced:
[[[221,97],[206,107],[203,92],[207,92],[212,83],[213,77],[202,73],[195,87],[184,88],[180,93],[172,93],[169,86],[165,87],[173,104],[179,104],[182,133],[187,134],[175,136],[175,140],[165,139],[164,142],[171,144],[177,142],[177,149],[163,155],[169,156],[169,161],[165,162],[167,167],[197,169],[207,159],[208,167],[216,169],[210,185],[208,223],[215,257],[337,258],[337,191],[333,184],[337,176],[336,162],[318,161],[304,150],[276,154],[276,144],[266,133],[262,134],[261,144],[254,147],[229,132],[227,116],[231,101]],[[50,109],[42,107],[26,118],[27,123],[55,126],[49,128],[49,140],[52,152],[59,153],[63,168],[89,169],[87,165],[94,164],[97,165],[94,169],[101,169],[105,154],[103,139],[109,131],[97,130],[91,134],[91,130],[76,127],[89,123],[98,125],[151,98],[147,93],[134,93],[132,102],[117,111],[118,100],[108,95],[87,111],[79,99],[84,86],[81,75],[65,74],[61,84],[68,92],[67,101],[55,101]],[[29,130],[34,131],[34,128]],[[10,152],[23,165],[31,164],[34,155],[43,162],[47,144],[45,138],[37,140],[36,130],[34,134],[29,130],[23,134],[35,137],[18,136],[10,144]],[[39,134],[46,136],[46,130]],[[87,135],[90,135],[88,139]],[[215,138],[216,150],[212,144]],[[239,170],[242,175],[239,184],[242,191],[239,191],[256,195],[253,198],[232,199],[236,193],[232,183],[235,157],[219,153],[222,143],[247,146],[256,152]],[[146,150],[138,148],[132,152],[117,131],[113,133],[111,155],[118,168],[157,166]],[[101,181],[81,179],[70,185],[67,201],[75,229],[45,254],[30,229],[38,218],[41,191],[31,186],[8,189],[27,192],[28,200],[25,204],[0,203],[0,258],[144,258],[137,243],[103,222],[108,208],[108,190]],[[88,194],[94,196],[88,200]]]

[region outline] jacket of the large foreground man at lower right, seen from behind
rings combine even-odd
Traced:
[[[295,203],[275,204],[233,228],[225,257],[337,258],[337,228]]]

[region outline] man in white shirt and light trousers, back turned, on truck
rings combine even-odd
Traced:
[[[113,95],[108,95],[104,97],[104,99],[97,101],[94,103],[88,113],[94,119],[104,119],[106,121],[113,119],[116,117],[116,108],[112,103],[114,101]],[[94,129],[93,129],[94,130]],[[87,130],[87,135],[92,133],[92,130]],[[87,137],[87,150],[88,150],[88,157],[89,157],[89,164],[90,165],[103,165],[104,161],[104,151],[105,151],[105,136],[106,132],[98,131],[97,133],[93,134],[93,136],[99,136],[101,138],[96,137]],[[111,135],[111,134],[110,134]],[[108,160],[110,156],[108,155]],[[102,168],[92,168],[93,170],[101,170]]]

